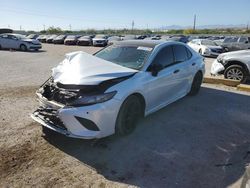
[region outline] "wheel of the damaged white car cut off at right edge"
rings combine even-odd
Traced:
[[[241,83],[245,83],[247,80],[247,73],[240,65],[231,65],[225,72],[224,77],[231,80],[239,80]]]

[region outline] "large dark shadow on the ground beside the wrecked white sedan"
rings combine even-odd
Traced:
[[[226,187],[250,162],[250,97],[203,87],[144,118],[134,133],[44,138],[108,180],[139,187]]]

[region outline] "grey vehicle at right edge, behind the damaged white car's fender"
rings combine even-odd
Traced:
[[[226,52],[250,49],[250,37],[230,37],[225,38],[221,46]]]

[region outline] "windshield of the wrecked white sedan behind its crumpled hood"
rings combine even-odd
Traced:
[[[97,54],[96,57],[112,63],[139,70],[152,52],[152,48],[138,46],[109,46]]]

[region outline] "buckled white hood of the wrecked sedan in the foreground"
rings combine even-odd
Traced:
[[[54,82],[64,85],[98,85],[103,81],[129,76],[138,72],[79,51],[52,69]]]

